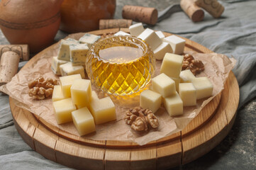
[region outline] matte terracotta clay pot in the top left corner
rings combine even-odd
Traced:
[[[52,44],[60,27],[62,0],[2,0],[1,30],[11,44],[38,52]]]

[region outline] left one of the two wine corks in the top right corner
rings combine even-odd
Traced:
[[[180,6],[193,22],[199,22],[204,19],[204,10],[197,6],[193,0],[181,0]]]

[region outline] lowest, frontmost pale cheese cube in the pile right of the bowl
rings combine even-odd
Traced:
[[[164,106],[170,116],[183,114],[183,102],[177,92],[172,96],[164,98]]]

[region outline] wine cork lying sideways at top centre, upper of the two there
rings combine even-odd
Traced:
[[[157,9],[144,6],[123,6],[122,16],[125,19],[155,25],[157,23]]]

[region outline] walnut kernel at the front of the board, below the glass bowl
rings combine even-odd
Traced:
[[[149,109],[135,107],[126,111],[124,118],[130,128],[136,131],[146,131],[149,126],[157,128],[159,123],[157,117]]]

